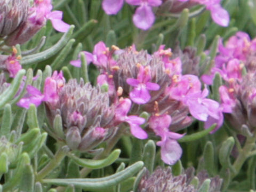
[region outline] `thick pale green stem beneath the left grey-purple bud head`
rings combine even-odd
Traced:
[[[47,174],[59,166],[62,159],[67,155],[66,150],[63,150],[62,146],[59,148],[54,158],[41,170],[36,176],[36,181],[41,181]]]

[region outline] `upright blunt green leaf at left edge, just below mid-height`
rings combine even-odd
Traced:
[[[10,104],[4,106],[4,114],[2,117],[1,129],[0,129],[0,138],[4,135],[6,138],[9,138],[12,125],[12,108]]]

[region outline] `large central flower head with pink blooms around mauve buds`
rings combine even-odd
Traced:
[[[108,85],[111,102],[126,98],[132,101],[131,115],[143,111],[150,115],[145,130],[131,126],[131,133],[139,139],[152,133],[160,137],[157,145],[161,146],[165,163],[174,164],[181,157],[177,140],[183,134],[175,132],[189,126],[194,119],[205,122],[206,129],[213,123],[217,123],[216,129],[221,126],[223,115],[219,103],[206,98],[209,91],[206,87],[201,90],[197,76],[182,74],[181,59],[171,59],[171,49],[164,50],[164,45],[150,55],[143,50],[138,52],[134,46],[125,50],[113,46],[110,50],[99,42],[93,53],[84,54],[87,63],[93,62],[99,68],[98,84]],[[75,60],[71,65],[79,67],[81,63]]]

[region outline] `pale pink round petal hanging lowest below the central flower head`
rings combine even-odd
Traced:
[[[173,165],[182,155],[182,149],[176,140],[167,139],[165,142],[157,142],[161,144],[161,158],[164,163]]]

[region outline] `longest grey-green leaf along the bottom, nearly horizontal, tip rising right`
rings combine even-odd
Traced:
[[[143,167],[143,162],[137,162],[127,167],[125,170],[110,175],[104,178],[97,179],[43,179],[44,183],[58,185],[58,186],[69,186],[74,185],[75,187],[81,187],[84,190],[104,190],[107,187],[115,186],[118,183],[132,177]]]

